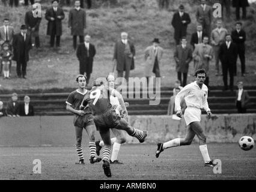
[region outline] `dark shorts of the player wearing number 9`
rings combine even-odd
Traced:
[[[100,115],[94,116],[94,122],[98,131],[117,127],[120,119],[120,116],[115,113],[114,109],[109,109]]]

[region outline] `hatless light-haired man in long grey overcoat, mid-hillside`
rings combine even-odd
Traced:
[[[121,41],[115,43],[114,47],[114,67],[117,68],[118,77],[123,77],[124,70],[126,71],[125,78],[128,82],[130,76],[130,70],[134,68],[134,56],[135,56],[135,47],[132,42],[128,39],[127,32],[121,33]]]

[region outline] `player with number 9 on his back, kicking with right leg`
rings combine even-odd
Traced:
[[[100,132],[103,142],[105,143],[102,152],[103,170],[106,176],[111,177],[111,170],[109,164],[109,155],[111,151],[111,138],[109,128],[117,128],[118,130],[125,130],[130,136],[136,137],[140,143],[145,141],[147,131],[137,130],[128,124],[128,122],[117,115],[110,103],[110,95],[117,97],[122,109],[123,116],[127,116],[126,106],[122,95],[118,91],[102,85],[102,82],[94,82],[94,87],[85,95],[80,109],[92,110],[94,115],[94,122],[97,130]]]

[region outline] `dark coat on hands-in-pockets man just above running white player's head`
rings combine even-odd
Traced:
[[[176,61],[176,71],[187,73],[189,70],[189,63],[192,61],[192,48],[187,44],[185,49],[181,44],[176,47],[174,52],[174,59]]]

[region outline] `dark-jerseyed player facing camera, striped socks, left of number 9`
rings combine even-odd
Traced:
[[[85,89],[86,77],[84,75],[78,75],[76,77],[78,83],[78,89],[70,93],[67,98],[67,110],[74,114],[74,126],[76,131],[76,152],[78,153],[79,163],[85,164],[84,155],[82,151],[82,131],[85,128],[89,136],[89,148],[90,148],[90,162],[96,163],[101,161],[101,158],[96,157],[96,144],[95,144],[95,124],[93,121],[93,115],[91,110],[79,110],[79,106],[82,103],[85,95],[88,94],[88,90]]]

